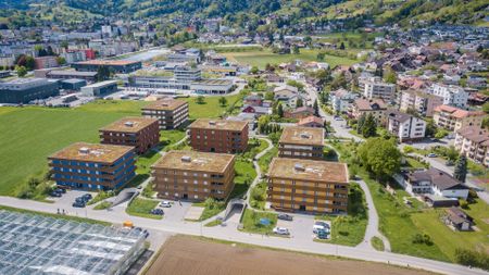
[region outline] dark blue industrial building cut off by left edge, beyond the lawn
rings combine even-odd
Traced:
[[[28,103],[32,100],[54,97],[59,93],[57,80],[18,78],[0,83],[0,103]]]

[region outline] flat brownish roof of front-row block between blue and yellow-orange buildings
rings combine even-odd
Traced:
[[[235,159],[234,154],[197,151],[170,151],[158,161],[153,168],[186,170],[224,173]]]

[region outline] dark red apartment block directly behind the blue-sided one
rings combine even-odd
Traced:
[[[135,147],[136,153],[145,153],[160,142],[156,118],[124,117],[101,129],[100,142]]]

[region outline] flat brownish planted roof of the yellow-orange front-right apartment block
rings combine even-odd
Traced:
[[[288,158],[274,158],[268,168],[268,177],[333,184],[349,183],[346,163]]]

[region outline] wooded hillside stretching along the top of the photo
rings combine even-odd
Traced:
[[[118,15],[147,18],[171,14],[216,17],[236,14],[263,16],[293,14],[299,18],[328,20],[366,15],[377,24],[426,21],[428,23],[486,24],[487,0],[0,0],[0,17],[18,12],[58,20]],[[83,17],[82,17],[83,18]],[[17,18],[18,20],[18,18]],[[22,18],[21,18],[22,20]]]

